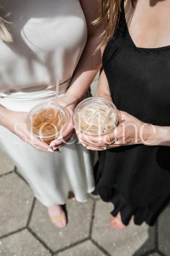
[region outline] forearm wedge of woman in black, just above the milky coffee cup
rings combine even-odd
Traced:
[[[108,80],[103,69],[100,70],[99,86],[96,96],[102,96],[112,100]]]

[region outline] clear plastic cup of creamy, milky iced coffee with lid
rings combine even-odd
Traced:
[[[108,116],[110,117],[105,123]],[[74,125],[84,134],[92,136],[108,134],[118,124],[119,116],[116,106],[104,97],[84,99],[75,108]]]

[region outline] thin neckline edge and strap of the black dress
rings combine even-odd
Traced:
[[[126,16],[125,16],[125,1],[123,0],[122,1],[122,14],[123,14],[123,20],[124,20],[124,26],[125,26],[125,29],[127,31],[127,35],[128,35],[128,39],[131,43],[131,45],[133,46],[133,48],[137,49],[137,50],[141,50],[141,51],[145,51],[145,52],[159,52],[159,51],[162,51],[162,50],[168,50],[170,49],[170,45],[167,45],[167,46],[162,46],[162,47],[156,47],[156,48],[144,48],[144,47],[137,47],[136,44],[134,43],[130,33],[129,33],[129,29],[128,29],[128,26],[127,26],[127,22],[126,22]]]

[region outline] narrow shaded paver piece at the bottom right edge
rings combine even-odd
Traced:
[[[159,217],[158,221],[159,250],[170,255],[170,206]]]

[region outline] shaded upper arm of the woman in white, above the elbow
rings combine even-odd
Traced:
[[[85,15],[88,35],[100,35],[103,32],[103,24],[98,25],[91,24],[102,13],[102,0],[80,0],[82,10]]]

